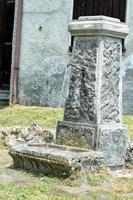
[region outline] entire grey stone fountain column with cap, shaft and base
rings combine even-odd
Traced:
[[[127,127],[122,124],[122,39],[118,19],[80,17],[69,25],[75,36],[69,95],[57,143],[103,152],[105,164],[124,164]]]

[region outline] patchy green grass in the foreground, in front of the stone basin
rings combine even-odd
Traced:
[[[96,180],[96,175],[91,179],[95,179],[97,182],[102,182],[103,177],[99,177]],[[94,183],[95,183],[94,181]],[[114,180],[113,180],[114,181]],[[62,187],[64,185],[63,180],[58,180],[54,178],[44,177],[42,183],[32,186],[22,186],[17,184],[0,184],[0,200],[97,200],[97,199],[106,199],[106,200],[132,200],[133,196],[127,196],[132,192],[132,183],[131,185],[114,185],[112,189],[108,191],[104,187],[96,189],[96,184],[94,184],[94,189],[90,189],[86,194],[75,195],[75,192],[71,195],[63,192],[62,190],[54,189],[54,186]],[[128,181],[127,181],[128,183]],[[89,184],[91,185],[91,184]],[[93,185],[92,185],[93,186]],[[99,185],[98,185],[99,186]],[[89,186],[90,187],[90,186]],[[71,189],[70,189],[71,190]],[[78,191],[79,188],[77,187]],[[68,189],[67,189],[68,191]],[[81,192],[82,193],[82,192]]]

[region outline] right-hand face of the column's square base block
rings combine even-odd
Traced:
[[[104,155],[104,163],[111,168],[121,168],[125,163],[127,127],[98,126],[97,147]]]

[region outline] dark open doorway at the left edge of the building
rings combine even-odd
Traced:
[[[15,0],[0,0],[0,89],[9,90]]]

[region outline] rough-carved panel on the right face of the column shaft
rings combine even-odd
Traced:
[[[100,122],[121,122],[121,41],[105,38],[102,41]]]

